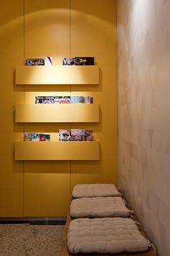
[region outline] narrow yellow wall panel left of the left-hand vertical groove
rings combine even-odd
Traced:
[[[14,85],[14,67],[24,59],[23,1],[0,3],[0,216],[23,216],[23,163],[14,161],[14,141],[23,124],[14,123],[14,104],[23,103],[23,86]]]

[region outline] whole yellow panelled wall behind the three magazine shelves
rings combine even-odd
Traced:
[[[66,216],[75,184],[117,184],[116,7],[112,0],[10,0],[1,12],[1,211],[0,216]],[[24,12],[23,12],[24,9]],[[33,56],[94,56],[99,85],[14,85],[14,68]],[[10,59],[10,61],[9,61]],[[24,93],[23,93],[24,92]],[[92,124],[16,124],[14,105],[37,93],[91,95],[100,106]],[[33,95],[33,97],[32,97]],[[4,109],[6,114],[4,115]],[[24,132],[92,129],[99,161],[14,161],[14,141]]]

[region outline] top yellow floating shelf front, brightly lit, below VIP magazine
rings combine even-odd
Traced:
[[[99,67],[94,66],[22,66],[15,74],[17,85],[97,85]]]

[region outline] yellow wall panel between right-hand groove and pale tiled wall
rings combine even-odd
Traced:
[[[99,161],[73,161],[71,187],[79,183],[117,184],[116,1],[73,0],[71,8],[71,56],[91,53],[100,69],[99,86],[82,85],[80,90],[93,92],[101,114],[100,122],[91,124],[94,140],[100,144]],[[77,86],[71,85],[71,90],[76,92]]]

